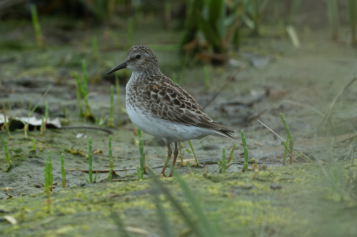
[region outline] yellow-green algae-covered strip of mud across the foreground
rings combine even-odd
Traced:
[[[334,163],[330,172],[347,179],[347,163]],[[356,172],[356,166],[353,170]],[[267,168],[255,178],[253,175],[191,174],[181,178],[221,236],[356,236],[356,203],[333,198],[338,192],[317,164]],[[195,216],[175,177],[159,183]],[[0,210],[7,212],[0,215],[15,217],[18,224],[2,221],[0,232],[6,236],[108,236],[121,231],[114,220],[120,218],[126,230],[135,227],[162,236],[153,195],[159,195],[172,236],[187,230],[187,223],[167,197],[146,179],[75,185],[52,193],[49,203],[45,193],[12,197],[0,202]]]

